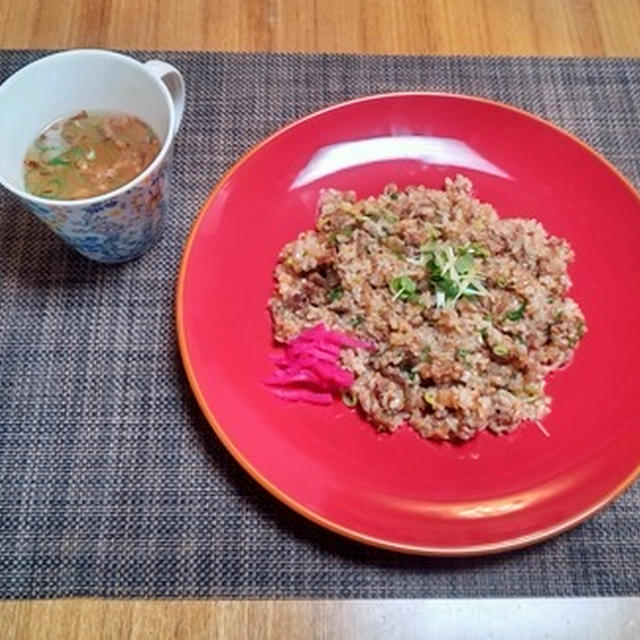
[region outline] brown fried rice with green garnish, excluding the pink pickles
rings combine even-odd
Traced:
[[[322,323],[373,342],[344,349],[341,364],[354,375],[349,404],[380,431],[406,423],[460,441],[540,420],[546,376],[584,335],[569,244],[471,192],[463,176],[363,200],[328,190],[316,228],[280,252],[275,339]]]

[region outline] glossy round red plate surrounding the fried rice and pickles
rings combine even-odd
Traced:
[[[462,446],[409,429],[377,435],[353,411],[290,404],[261,384],[273,351],[276,256],[314,226],[322,188],[441,187],[463,172],[502,216],[540,220],[576,253],[589,333],[549,383],[550,437],[534,425]],[[560,129],[479,98],[393,94],[326,109],[279,131],[216,187],[195,223],[177,293],[194,393],[238,462],[314,522],[414,553],[521,547],[591,516],[640,471],[640,199]]]

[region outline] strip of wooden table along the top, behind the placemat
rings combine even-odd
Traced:
[[[638,56],[638,0],[0,0],[2,47]]]

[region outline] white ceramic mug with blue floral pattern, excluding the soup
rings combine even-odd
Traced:
[[[162,142],[154,161],[127,184],[83,200],[52,200],[24,189],[24,156],[53,120],[81,110],[120,111],[150,125]],[[27,65],[0,86],[0,184],[82,255],[123,262],[160,237],[168,205],[173,140],[184,81],[166,62],[142,64],[112,51],[78,49]]]

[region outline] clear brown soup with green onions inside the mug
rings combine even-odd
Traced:
[[[142,173],[161,146],[153,129],[134,116],[81,111],[47,126],[29,147],[25,188],[54,200],[98,196]]]

